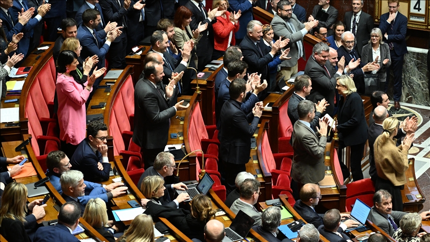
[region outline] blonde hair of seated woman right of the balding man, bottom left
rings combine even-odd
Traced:
[[[85,206],[82,218],[94,228],[102,228],[108,224],[106,203],[101,198],[90,199]]]

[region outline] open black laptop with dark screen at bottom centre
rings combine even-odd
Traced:
[[[225,237],[222,239],[222,242],[233,242],[244,239],[254,225],[254,222],[253,218],[249,217],[242,210],[239,210],[230,227],[225,228]]]

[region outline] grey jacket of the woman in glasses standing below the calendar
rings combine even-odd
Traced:
[[[372,44],[366,44],[363,47],[363,50],[361,52],[361,62],[367,64],[369,62],[374,61],[372,51],[373,51]],[[381,60],[381,66],[379,67],[379,70],[376,73],[379,74],[379,81],[385,82],[387,80],[386,69],[391,65],[391,56],[390,56],[390,49],[388,48],[388,44],[386,43],[380,44],[379,51],[381,53],[381,55],[379,56],[379,60]],[[386,65],[382,63],[385,59],[389,59]],[[369,72],[369,74],[370,73],[371,72]]]

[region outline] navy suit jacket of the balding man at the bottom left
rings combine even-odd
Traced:
[[[52,242],[52,241],[79,242],[79,240],[70,233],[69,229],[62,224],[40,227],[36,231],[36,235],[33,240],[33,242]]]

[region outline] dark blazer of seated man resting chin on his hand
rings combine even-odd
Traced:
[[[72,158],[70,158],[72,170],[79,170],[84,173],[84,180],[86,181],[107,181],[109,179],[110,163],[102,163],[102,154],[99,151],[95,153],[88,141],[88,138],[82,140]],[[102,163],[103,171],[97,168],[98,162]]]

